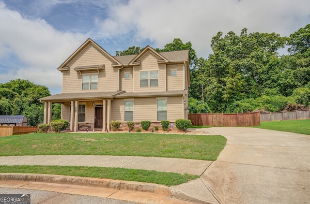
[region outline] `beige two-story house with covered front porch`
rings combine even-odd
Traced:
[[[51,122],[53,102],[62,103],[71,131],[110,130],[112,120],[187,118],[188,50],[158,53],[147,46],[138,55],[113,57],[88,39],[58,70],[62,93],[39,99],[44,124]]]

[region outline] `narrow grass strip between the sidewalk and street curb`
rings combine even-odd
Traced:
[[[199,175],[156,172],[140,169],[123,169],[85,166],[0,166],[2,173],[31,173],[50,175],[72,175],[114,180],[138,181],[175,186],[199,178]]]

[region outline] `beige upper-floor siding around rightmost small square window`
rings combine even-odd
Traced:
[[[171,70],[177,71],[177,76],[171,76]],[[167,65],[167,91],[183,90],[183,63]]]

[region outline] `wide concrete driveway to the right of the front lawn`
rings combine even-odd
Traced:
[[[234,127],[201,131],[228,140],[201,177],[219,203],[310,203],[310,135]]]

